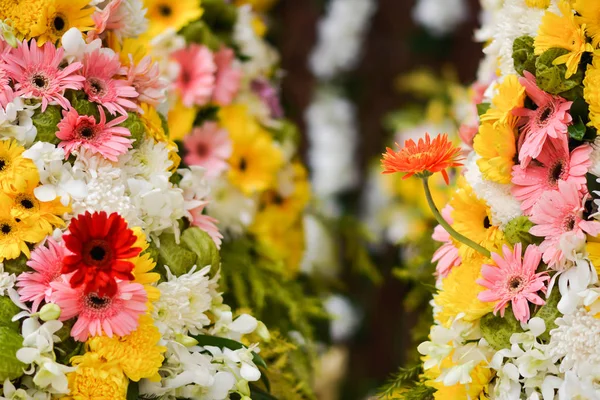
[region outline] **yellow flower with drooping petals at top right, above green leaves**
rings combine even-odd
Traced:
[[[556,47],[568,50],[567,54],[554,60],[554,65],[566,64],[565,78],[570,78],[577,72],[583,53],[594,51],[594,48],[587,43],[585,25],[577,23],[569,2],[561,0],[558,7],[562,16],[546,11],[542,17],[542,24],[533,43],[534,52],[540,55]]]

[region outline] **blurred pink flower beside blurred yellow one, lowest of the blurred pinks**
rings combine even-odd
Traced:
[[[183,144],[187,152],[185,163],[206,168],[207,177],[217,177],[227,170],[227,160],[232,151],[231,140],[227,131],[219,128],[215,122],[206,122],[194,128],[183,139]]]

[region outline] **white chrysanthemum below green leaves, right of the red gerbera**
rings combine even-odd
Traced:
[[[167,268],[167,280],[158,285],[160,299],[154,303],[153,318],[163,336],[174,338],[177,334],[198,335],[211,324],[205,313],[210,310],[210,266],[175,276]],[[213,278],[214,279],[214,278]]]

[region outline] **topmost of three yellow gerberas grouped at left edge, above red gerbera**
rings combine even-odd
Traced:
[[[15,140],[0,141],[0,189],[4,193],[25,191],[28,181],[40,180],[33,161],[22,157],[23,151]]]

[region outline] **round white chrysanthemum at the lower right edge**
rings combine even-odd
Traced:
[[[555,322],[548,352],[560,360],[560,371],[600,379],[600,319],[581,307]]]

